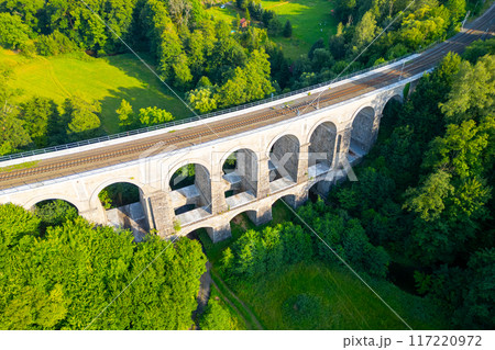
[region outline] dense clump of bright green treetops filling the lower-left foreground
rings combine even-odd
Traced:
[[[135,244],[130,232],[81,217],[36,237],[38,223],[22,207],[0,205],[0,329],[190,328],[206,271],[197,241],[150,236]]]

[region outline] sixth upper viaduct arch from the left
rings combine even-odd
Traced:
[[[337,145],[337,125],[323,120],[316,124],[308,135],[309,142],[309,172],[314,176],[327,172],[333,166]]]

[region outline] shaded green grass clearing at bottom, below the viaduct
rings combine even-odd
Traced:
[[[414,328],[448,326],[425,300],[389,282],[377,293]],[[234,287],[266,329],[406,329],[352,273],[321,262],[305,262]]]

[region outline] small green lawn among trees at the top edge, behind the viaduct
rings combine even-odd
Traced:
[[[331,14],[333,3],[329,0],[263,0],[262,4],[264,9],[275,11],[283,24],[287,20],[293,24],[293,37],[274,38],[287,57],[306,55],[320,37],[328,45],[329,36],[337,32],[339,23]]]

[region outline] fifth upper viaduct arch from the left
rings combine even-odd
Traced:
[[[279,135],[270,143],[266,150],[270,182],[277,180],[280,184],[284,181],[286,184],[297,182],[299,151],[300,140],[294,134]]]

